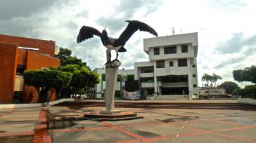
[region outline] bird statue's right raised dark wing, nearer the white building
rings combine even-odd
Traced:
[[[113,46],[124,46],[129,38],[131,38],[132,34],[134,34],[138,29],[140,31],[149,32],[155,36],[158,36],[158,33],[144,22],[140,22],[138,20],[127,20],[125,22],[129,22],[129,24],[119,38],[115,40]]]

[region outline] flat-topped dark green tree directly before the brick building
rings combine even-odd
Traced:
[[[68,86],[72,78],[70,72],[56,70],[30,70],[24,72],[24,83],[34,86],[39,94],[39,102],[45,102],[46,92],[55,88],[59,90]]]

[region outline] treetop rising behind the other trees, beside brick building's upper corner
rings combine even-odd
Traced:
[[[79,65],[79,67],[82,67],[82,66],[87,67],[87,62],[82,62],[81,59],[77,58],[76,56],[72,57],[71,54],[72,54],[72,50],[69,50],[68,48],[60,47],[60,50],[58,51],[58,55],[56,55],[55,57],[60,59],[60,66],[65,66],[67,64],[77,64]]]

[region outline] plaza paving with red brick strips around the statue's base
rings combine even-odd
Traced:
[[[256,109],[139,109],[141,119],[82,120],[105,108],[0,109],[0,142],[255,142]]]

